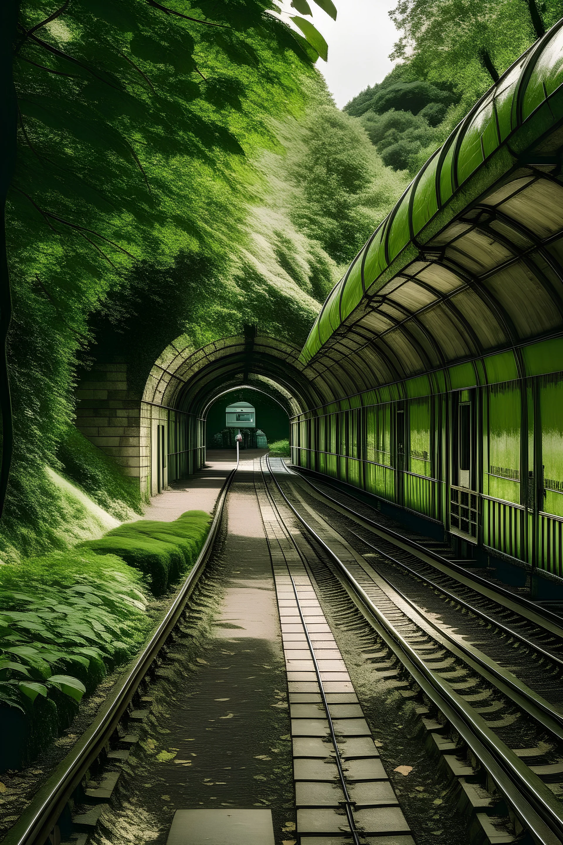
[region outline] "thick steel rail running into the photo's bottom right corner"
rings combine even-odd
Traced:
[[[473,707],[463,701],[461,696],[457,695],[446,681],[437,678],[430,672],[425,662],[409,645],[409,642],[371,601],[371,598],[344,566],[338,555],[318,536],[317,532],[308,525],[299,511],[291,504],[269,466],[268,457],[267,464],[273,481],[285,503],[300,523],[305,526],[311,537],[315,538],[321,548],[328,553],[333,563],[336,564],[340,574],[344,576],[342,582],[344,582],[344,586],[347,586],[349,594],[355,594],[356,605],[364,612],[364,615],[367,615],[368,619],[370,617],[375,619],[374,627],[376,627],[377,632],[382,635],[382,639],[414,677],[420,688],[424,690],[431,701],[434,701],[438,709],[456,728],[463,741],[474,752],[476,758],[489,771],[507,803],[511,805],[522,822],[522,826],[530,832],[534,841],[540,843],[540,845],[560,845],[563,842],[560,832],[563,831],[563,807],[555,799],[555,795],[546,790],[539,777],[534,775],[528,766],[501,739],[495,736],[487,727],[485,720],[479,717]],[[371,624],[374,624],[371,619],[370,621]]]

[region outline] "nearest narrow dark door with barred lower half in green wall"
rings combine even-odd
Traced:
[[[477,419],[475,390],[452,394],[450,527],[477,542]]]

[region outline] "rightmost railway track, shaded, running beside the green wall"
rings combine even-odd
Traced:
[[[479,647],[485,662],[490,658],[497,674],[503,666],[510,666],[512,674],[533,690],[534,710],[539,707],[558,723],[558,728],[553,724],[551,728],[560,737],[563,619],[490,585],[441,554],[430,554],[420,542],[410,541],[366,515],[367,509],[361,513],[327,496],[308,479],[306,484],[315,496],[311,501],[317,507],[324,504],[331,519],[336,516],[355,548],[368,559],[376,558],[379,575],[390,579],[398,591],[408,591],[415,603],[424,602],[426,611],[439,614],[441,622],[456,629],[460,647],[466,648],[466,641],[474,637],[475,619],[479,619]]]

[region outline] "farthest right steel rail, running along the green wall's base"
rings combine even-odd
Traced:
[[[303,469],[303,467],[300,467],[300,469]],[[452,560],[449,560],[447,558],[442,557],[441,554],[438,554],[437,552],[432,551],[432,549],[430,549],[430,548],[426,548],[425,546],[421,545],[420,542],[416,542],[416,540],[411,540],[411,539],[409,539],[409,537],[404,537],[403,534],[399,534],[398,532],[393,531],[392,528],[387,528],[387,526],[383,526],[380,522],[376,522],[375,520],[371,520],[369,516],[364,516],[362,514],[359,514],[357,510],[353,510],[347,504],[342,504],[342,502],[339,502],[338,499],[333,499],[333,497],[329,496],[328,493],[324,493],[322,490],[317,488],[317,485],[313,484],[306,476],[302,476],[300,474],[300,472],[295,472],[295,470],[294,471],[288,470],[288,472],[290,472],[290,474],[291,473],[294,474],[298,478],[302,478],[303,481],[305,481],[307,484],[309,484],[309,486],[312,487],[314,490],[317,490],[317,493],[320,493],[325,499],[328,499],[329,501],[333,502],[334,504],[338,504],[338,507],[343,508],[343,510],[348,510],[350,514],[353,514],[353,515],[357,516],[358,519],[363,520],[364,522],[367,522],[369,525],[376,528],[377,532],[381,532],[382,534],[385,534],[388,537],[392,537],[393,539],[400,541],[401,543],[403,543],[404,546],[410,546],[411,548],[416,549],[417,552],[423,553],[426,557],[435,559],[442,566],[447,567],[447,569],[453,570],[454,572],[457,572],[459,575],[463,575],[463,577],[465,577],[468,581],[474,581],[476,584],[479,584],[481,586],[485,586],[490,592],[496,592],[503,597],[509,598],[512,603],[520,604],[520,605],[522,605],[522,608],[526,608],[527,610],[533,611],[534,615],[537,615],[539,617],[543,616],[544,619],[546,619],[550,622],[554,622],[555,625],[559,628],[559,633],[556,633],[555,635],[560,636],[563,639],[563,620],[556,613],[551,613],[550,610],[546,610],[545,608],[538,608],[534,604],[534,602],[529,601],[529,599],[524,598],[522,596],[518,596],[517,593],[513,593],[510,590],[506,590],[505,587],[499,586],[498,584],[494,584],[494,585],[490,584],[489,581],[487,581],[485,578],[481,578],[480,575],[475,575],[474,572],[469,574],[467,572],[467,570],[465,570],[463,568],[463,566],[459,566],[459,565],[453,563]],[[314,471],[308,470],[307,472],[314,472]],[[327,484],[328,487],[332,487],[334,490],[338,490],[338,488],[336,488],[330,482],[322,481],[322,484]],[[343,492],[343,491],[338,491],[338,492]],[[356,498],[355,496],[352,495],[352,493],[344,492],[344,495],[349,496],[350,498],[353,498],[353,499]],[[360,501],[360,499],[358,499],[358,501]],[[362,504],[364,504],[364,503],[362,503]],[[369,505],[367,505],[367,506],[369,507]],[[383,539],[384,539],[384,537],[383,537]],[[402,548],[402,547],[399,546],[399,548]],[[404,549],[404,551],[408,552],[409,549],[406,548],[406,549]],[[432,565],[430,561],[425,560],[424,562],[427,563],[427,564],[430,564],[430,566]],[[444,573],[444,575],[447,575],[447,573]],[[451,575],[450,577],[453,577],[453,576]],[[460,582],[460,583],[463,583],[463,582]],[[471,587],[470,585],[464,585],[464,586],[469,586],[470,589],[474,589],[474,587]],[[481,595],[483,595],[483,593],[481,593]],[[503,607],[506,607],[506,605],[503,605]],[[509,609],[512,609],[512,608],[509,608]],[[513,612],[517,613],[516,610],[513,610]],[[541,625],[541,619],[539,620],[539,622],[535,622],[534,619],[530,619],[527,616],[524,616],[524,619],[528,619],[528,622],[532,622],[533,624]],[[555,633],[554,631],[549,630],[549,628],[544,628],[544,630],[549,631],[550,634]],[[519,636],[517,634],[517,631],[514,631],[513,633],[514,633],[515,636]],[[536,646],[534,646],[534,648],[535,647]],[[546,653],[548,654],[549,657],[552,657],[554,660],[557,659],[554,655],[549,654],[549,652],[546,652]]]

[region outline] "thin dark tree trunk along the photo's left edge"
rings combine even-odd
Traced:
[[[12,401],[8,379],[6,338],[12,318],[12,295],[6,253],[6,197],[14,177],[18,107],[12,64],[19,0],[0,3],[0,413],[2,414],[2,463],[0,465],[0,517],[2,516],[14,447]]]

